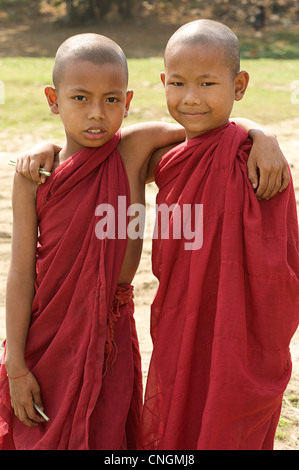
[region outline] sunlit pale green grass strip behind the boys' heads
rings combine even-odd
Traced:
[[[24,133],[37,140],[63,138],[60,119],[50,113],[43,93],[44,86],[51,83],[52,66],[51,58],[0,59],[0,80],[5,87],[5,103],[0,105],[0,134],[5,132],[11,139]],[[135,94],[124,125],[171,120],[160,82],[162,58],[129,59],[129,68],[129,87]],[[260,124],[298,117],[299,105],[291,101],[291,87],[299,80],[299,59],[243,59],[242,68],[251,79],[245,98],[235,104],[234,116]]]

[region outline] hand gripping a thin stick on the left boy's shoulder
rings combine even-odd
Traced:
[[[51,172],[54,156],[59,150],[60,147],[49,142],[35,145],[17,158],[16,172],[35,183],[44,183],[47,176],[40,175],[39,169],[42,167]]]

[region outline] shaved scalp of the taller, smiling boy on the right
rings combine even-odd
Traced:
[[[214,46],[223,52],[223,61],[233,77],[240,71],[240,44],[237,36],[224,24],[213,20],[196,20],[181,26],[169,39],[164,55],[167,60],[184,45]]]

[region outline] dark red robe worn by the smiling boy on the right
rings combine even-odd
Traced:
[[[191,139],[156,169],[157,205],[202,204],[198,249],[153,240],[159,287],[142,416],[143,449],[271,449],[298,326],[298,222],[292,183],[259,202],[250,141],[234,124]]]

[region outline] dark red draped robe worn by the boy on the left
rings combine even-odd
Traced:
[[[2,365],[2,448],[8,442],[16,449],[136,448],[132,422],[138,426],[142,391],[130,286],[116,294],[113,370],[115,352],[105,356],[127,240],[96,236],[99,204],[113,206],[116,218],[118,196],[129,204],[119,138],[76,153],[38,188],[36,294],[25,358],[50,422],[28,428],[14,416]]]

